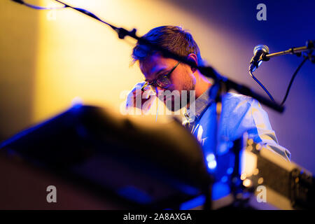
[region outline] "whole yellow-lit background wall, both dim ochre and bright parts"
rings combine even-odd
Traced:
[[[59,6],[50,0],[28,2]],[[160,25],[181,25],[194,34],[200,48],[209,47],[209,37],[223,41],[225,36],[216,34],[215,29],[205,29],[209,24],[167,1],[65,2],[90,10],[118,27],[136,27],[138,35]],[[54,116],[71,106],[75,97],[84,104],[119,111],[123,104],[121,94],[143,80],[138,66],[130,67],[135,42],[118,39],[101,22],[71,8],[34,10],[13,1],[1,1],[0,8],[4,12],[0,20],[0,103],[5,108],[1,111],[4,125],[0,136],[8,137]],[[203,56],[207,59],[207,55]]]

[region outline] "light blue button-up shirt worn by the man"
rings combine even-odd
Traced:
[[[216,146],[216,103],[210,99],[209,90],[195,100],[195,110],[193,107],[188,109],[185,114],[186,119],[183,121],[183,125],[197,137],[206,154],[214,153]],[[248,132],[248,136],[256,143],[263,144],[270,151],[290,160],[290,152],[279,146],[268,115],[260,103],[251,97],[228,92],[222,99],[218,139],[221,143],[235,141],[244,132]],[[216,154],[224,154],[227,148],[224,144],[219,146],[221,147],[218,147]]]

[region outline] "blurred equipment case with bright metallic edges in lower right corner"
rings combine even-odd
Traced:
[[[235,179],[238,181],[232,181],[232,186],[235,186],[232,206],[242,204],[254,209],[315,208],[315,177],[311,172],[288,162],[263,144],[248,139],[246,134],[242,141],[244,146],[239,154],[241,172]]]

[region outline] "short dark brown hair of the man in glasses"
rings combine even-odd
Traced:
[[[188,56],[190,53],[195,53],[197,55],[198,65],[202,65],[202,57],[200,56],[200,50],[195,42],[193,36],[181,27],[174,26],[162,26],[155,27],[148,31],[147,34],[143,36],[151,43],[160,45],[162,48],[180,55],[182,57]],[[135,63],[139,61],[142,64],[154,55],[157,50],[153,50],[148,45],[140,44],[139,42],[132,50],[132,62]]]

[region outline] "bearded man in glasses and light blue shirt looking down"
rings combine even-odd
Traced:
[[[203,63],[200,49],[193,36],[181,27],[156,27],[148,31],[144,38],[186,57],[197,66]],[[174,59],[163,57],[160,52],[149,48],[147,45],[137,43],[133,49],[132,57],[134,62],[139,62],[141,72],[146,80],[144,83],[138,83],[130,92],[127,107],[139,106],[135,104],[136,92],[139,92],[139,87],[141,90],[146,90],[151,86],[169,110],[177,111],[183,107],[187,108],[184,124],[200,141],[205,155],[214,152],[216,146],[216,104],[209,97],[211,82],[197,69]],[[168,91],[177,92],[177,94],[174,94],[174,97],[161,94],[161,92]],[[195,95],[190,94],[192,91]],[[141,101],[140,107],[146,105],[146,109],[148,109],[153,97],[144,91],[140,93],[146,94],[144,97],[146,99]],[[183,97],[187,100],[183,101]],[[179,100],[176,101],[176,98]],[[254,141],[265,144],[269,150],[281,155],[286,160],[290,160],[290,152],[279,146],[267,113],[255,99],[241,94],[225,94],[222,99],[219,124],[218,136],[220,138],[218,140],[222,144],[219,144],[220,147],[218,147],[216,155],[224,154],[228,150],[228,147],[225,147],[228,145],[226,143],[234,141],[241,137],[244,132],[248,132]]]

